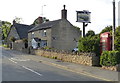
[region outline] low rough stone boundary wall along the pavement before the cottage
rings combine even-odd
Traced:
[[[99,57],[94,53],[81,53],[81,54],[70,54],[70,53],[58,53],[45,50],[33,50],[32,54],[44,56],[47,58],[58,59],[65,62],[72,62],[77,64],[83,64],[88,66],[99,66]]]

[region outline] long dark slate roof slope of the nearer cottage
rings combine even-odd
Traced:
[[[62,21],[64,19],[59,19],[59,20],[54,20],[54,21],[48,21],[46,23],[42,23],[34,28],[32,28],[31,30],[29,30],[28,32],[33,32],[33,31],[37,31],[37,30],[42,30],[42,29],[47,29],[47,28],[52,28],[52,26],[56,25],[57,23],[59,23],[60,21]]]

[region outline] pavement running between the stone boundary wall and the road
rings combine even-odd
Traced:
[[[91,67],[91,66],[86,66],[81,64],[62,62],[60,60],[50,59],[50,58],[46,58],[38,55],[29,55],[29,54],[21,53],[19,51],[18,53],[24,58],[27,58],[27,59],[29,58],[30,60],[37,61],[39,63],[55,66],[60,69],[94,77],[100,80],[118,81],[120,79],[119,78],[120,72],[105,70],[105,69],[102,69],[101,67]]]

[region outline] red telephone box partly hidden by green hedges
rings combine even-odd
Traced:
[[[112,36],[110,32],[105,32],[100,35],[100,53],[110,51],[112,49]]]

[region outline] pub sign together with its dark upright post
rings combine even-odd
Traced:
[[[85,37],[85,27],[90,22],[90,14],[91,12],[83,10],[83,11],[76,11],[77,12],[77,21],[76,22],[82,22],[83,23],[83,37]]]

